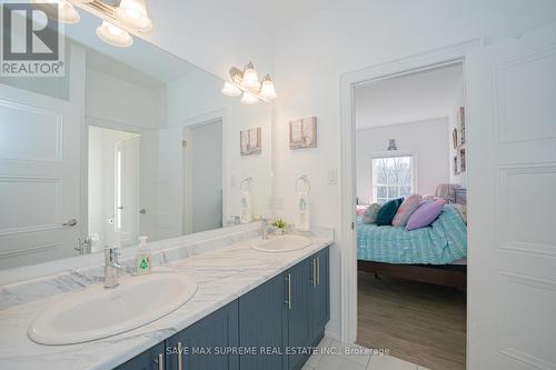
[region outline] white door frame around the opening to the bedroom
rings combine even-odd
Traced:
[[[357,193],[355,164],[355,88],[393,77],[399,77],[408,73],[426,71],[434,68],[457,63],[463,63],[465,87],[466,56],[481,48],[483,46],[483,39],[474,39],[466,42],[415,54],[411,57],[375,64],[369,68],[344,73],[340,76],[340,337],[344,342],[354,343],[357,339],[357,236],[355,230],[355,208]],[[469,126],[473,124],[473,122],[466,121],[466,124]],[[468,244],[467,248],[471,249],[475,248],[475,246]],[[473,291],[468,290],[467,294],[468,298],[471,297]],[[467,317],[469,318],[468,311]],[[469,320],[467,320],[467,326],[469,327]]]

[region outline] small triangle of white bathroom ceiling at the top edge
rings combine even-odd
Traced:
[[[344,0],[236,0],[236,6],[240,9],[249,9],[249,13],[255,19],[261,20],[268,29],[276,30],[341,1]]]

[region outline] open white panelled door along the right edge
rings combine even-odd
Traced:
[[[556,26],[465,73],[468,369],[556,369]]]

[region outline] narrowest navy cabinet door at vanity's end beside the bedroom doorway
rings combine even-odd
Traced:
[[[325,326],[330,320],[330,266],[329,248],[322,249],[315,257],[316,282],[312,290],[312,344],[317,344],[325,334]]]

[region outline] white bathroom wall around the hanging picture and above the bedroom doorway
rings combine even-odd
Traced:
[[[476,38],[487,42],[556,21],[553,0],[350,0],[302,22],[288,24],[274,41],[275,194],[285,199],[279,213],[294,219],[294,180],[311,180],[312,223],[340,227],[340,188],[327,184],[328,170],[340,170],[340,74]],[[319,118],[319,147],[289,151],[287,122]],[[340,253],[331,251],[331,322],[339,334]]]

